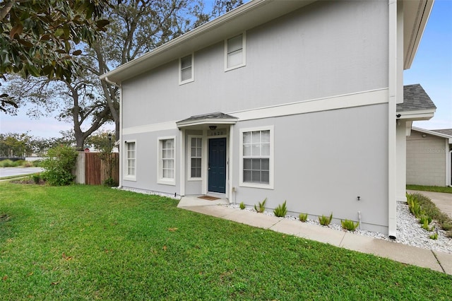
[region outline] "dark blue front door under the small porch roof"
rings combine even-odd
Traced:
[[[226,192],[226,138],[209,139],[208,190]]]

